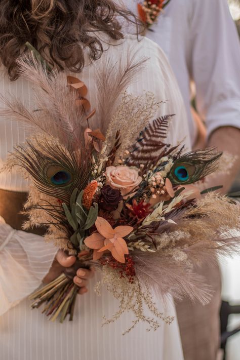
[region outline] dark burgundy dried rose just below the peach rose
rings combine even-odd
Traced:
[[[110,185],[102,187],[99,206],[106,211],[116,210],[119,202],[123,200],[120,190],[113,189]]]

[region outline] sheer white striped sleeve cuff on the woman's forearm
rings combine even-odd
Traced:
[[[0,315],[41,285],[56,252],[42,236],[0,224]]]

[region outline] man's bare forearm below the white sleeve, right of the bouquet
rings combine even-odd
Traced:
[[[229,171],[212,175],[207,180],[208,186],[223,185],[222,193],[229,191],[236,175],[240,171],[240,129],[234,127],[221,127],[216,129],[208,140],[208,146],[217,147],[218,150],[228,152],[236,157],[236,160]]]

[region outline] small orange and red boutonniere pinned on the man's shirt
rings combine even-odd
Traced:
[[[138,15],[149,28],[169,2],[170,0],[148,0],[138,3]]]

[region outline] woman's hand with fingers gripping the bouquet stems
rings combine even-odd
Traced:
[[[64,251],[58,250],[57,255],[54,259],[51,269],[43,279],[43,283],[48,284],[57,278],[64,271],[66,267],[71,267],[76,262],[75,256],[67,256]],[[73,278],[74,284],[79,286],[78,294],[87,293],[88,280],[93,277],[94,268],[84,269],[79,268],[76,272],[76,276]]]

